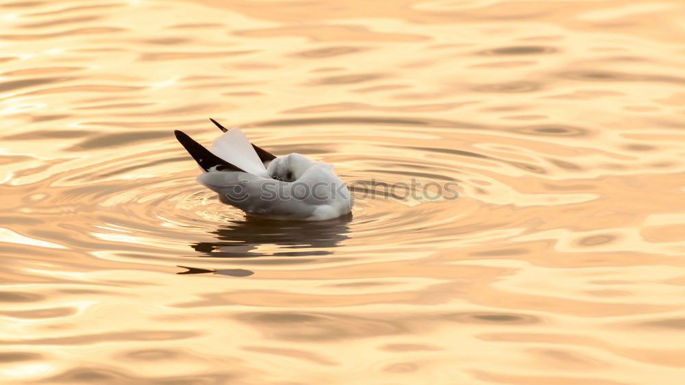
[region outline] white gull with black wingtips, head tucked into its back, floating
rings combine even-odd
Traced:
[[[184,132],[178,141],[204,171],[197,182],[219,193],[219,200],[266,219],[325,221],[349,214],[352,200],[333,165],[299,153],[276,157],[252,145],[235,127],[226,129],[210,149]]]

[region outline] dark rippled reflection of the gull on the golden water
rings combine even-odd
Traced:
[[[203,257],[212,258],[256,258],[270,257],[301,257],[326,256],[333,251],[327,250],[340,246],[349,238],[349,222],[351,214],[328,221],[269,221],[246,216],[244,221],[234,221],[223,225],[211,232],[216,240],[200,242],[190,245]],[[279,250],[286,251],[256,251],[261,245],[276,245]],[[292,249],[292,251],[287,251]],[[245,269],[201,269],[190,266],[179,266],[187,271],[177,274],[215,273],[247,277],[254,272]]]

